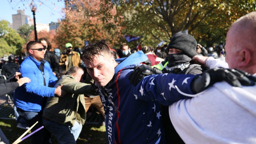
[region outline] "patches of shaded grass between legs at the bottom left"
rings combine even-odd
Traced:
[[[17,128],[17,123],[12,119],[0,119],[0,128],[7,137],[10,143],[13,143],[19,138],[26,130]],[[105,126],[98,126],[95,124],[85,124],[80,133],[77,144],[105,144],[106,140],[106,129]],[[30,139],[27,138],[20,144],[28,144]],[[52,138],[52,143],[57,144],[56,140]]]

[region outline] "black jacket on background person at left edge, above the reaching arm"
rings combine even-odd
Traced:
[[[8,62],[2,67],[2,75],[5,75],[8,79],[9,77],[12,77],[15,72],[17,72],[19,69],[19,65],[15,62]]]

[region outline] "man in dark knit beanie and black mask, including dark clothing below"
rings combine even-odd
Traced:
[[[177,33],[173,35],[171,42],[167,46],[168,64],[162,72],[193,75],[201,74],[201,66],[191,64],[192,57],[197,55],[196,46],[195,38],[189,34]],[[161,105],[166,141],[167,143],[184,143],[171,123],[168,108],[168,106]],[[170,135],[171,137],[168,137]]]

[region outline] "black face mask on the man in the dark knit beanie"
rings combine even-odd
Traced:
[[[168,67],[173,67],[178,64],[187,63],[192,59],[185,55],[183,52],[178,54],[168,54]]]

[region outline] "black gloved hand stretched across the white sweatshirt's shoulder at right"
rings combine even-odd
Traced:
[[[191,83],[191,90],[194,93],[199,93],[220,81],[226,81],[235,87],[253,86],[256,77],[238,69],[213,68],[196,76]]]

